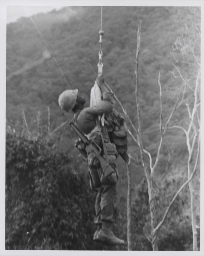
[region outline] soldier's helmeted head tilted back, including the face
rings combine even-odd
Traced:
[[[82,110],[85,102],[78,89],[63,91],[58,99],[59,106],[62,110],[66,112],[72,110],[74,113]]]

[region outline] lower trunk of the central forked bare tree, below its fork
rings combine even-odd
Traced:
[[[151,214],[151,236],[152,236],[152,249],[158,251],[158,237],[157,232],[154,232],[154,228],[157,227],[157,214],[155,210],[154,188],[152,184],[152,178],[149,183],[149,209]]]

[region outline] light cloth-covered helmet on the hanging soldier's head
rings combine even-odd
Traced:
[[[58,99],[59,106],[65,111],[71,110],[76,103],[78,89],[63,91]]]

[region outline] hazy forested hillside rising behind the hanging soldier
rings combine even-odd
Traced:
[[[70,15],[70,10],[75,15]],[[90,89],[96,77],[93,69],[96,70],[98,63],[100,11],[99,7],[64,8],[53,11],[51,23],[45,22],[50,19],[51,14],[47,18],[41,14],[32,17],[51,51],[58,50],[55,58],[61,70],[50,59],[7,82],[6,118],[9,123],[21,123],[21,112],[24,109],[29,124],[35,119],[37,111],[41,111],[42,122],[45,124],[45,109],[50,106],[53,128],[60,125],[62,118],[58,95],[68,86],[78,88],[86,98],[86,106],[88,105]],[[66,17],[64,21],[59,21],[56,18],[66,14],[70,19],[67,20]],[[142,20],[139,94],[144,131],[158,127],[159,123],[159,70],[163,88],[164,120],[176,100],[172,90],[179,82],[174,81],[170,74],[173,70],[170,53],[177,35],[177,30],[173,27],[172,10],[161,7],[104,7],[102,28],[105,34],[102,50],[106,81],[127,109],[133,124],[136,124],[136,112],[132,111],[136,108],[135,63],[130,48],[136,48],[139,20]],[[7,25],[7,76],[41,58],[44,50],[45,43],[29,18],[21,18],[18,22]],[[180,121],[183,120],[185,108],[176,115]],[[177,120],[175,117],[173,119],[172,123]],[[68,129],[63,131],[67,132]],[[144,145],[153,156],[158,146],[158,136],[158,132],[155,132],[143,137]],[[163,158],[166,158],[168,151],[173,151],[175,156],[182,154],[183,157],[186,148],[182,132],[169,131],[168,136],[163,148]],[[178,148],[177,144],[181,146]]]

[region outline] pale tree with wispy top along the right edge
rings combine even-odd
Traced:
[[[187,83],[187,88],[190,89],[190,97],[187,97],[185,103],[185,106],[187,107],[189,123],[187,124],[187,128],[178,125],[175,125],[171,128],[181,129],[185,134],[186,145],[188,148],[187,170],[189,178],[197,168],[200,145],[200,7],[186,7],[185,9],[182,9],[177,18],[183,19],[184,16],[187,16],[189,18],[188,20],[190,21],[185,23],[178,31],[179,33],[176,44],[180,49],[178,58],[182,58],[183,61],[188,64],[188,69],[185,71],[185,69],[183,70],[182,67],[177,67],[175,64],[173,66],[177,72],[177,76],[174,74],[174,77]],[[177,19],[176,21],[178,22]],[[185,34],[185,37],[183,34]],[[189,104],[189,101],[191,104]],[[198,145],[198,148],[196,144]],[[197,157],[193,166],[193,153],[196,151]],[[196,198],[193,180],[190,180],[189,182],[189,190],[191,224],[193,233],[193,251],[198,251],[196,228]]]

